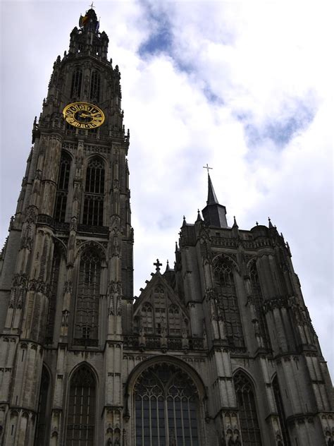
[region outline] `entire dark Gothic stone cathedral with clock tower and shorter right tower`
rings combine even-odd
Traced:
[[[173,268],[156,260],[134,298],[130,134],[108,43],[90,8],[33,124],[0,257],[0,445],[333,446],[290,248],[270,220],[229,227],[209,173]]]

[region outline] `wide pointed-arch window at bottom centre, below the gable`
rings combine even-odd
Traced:
[[[135,383],[134,404],[135,446],[199,446],[199,395],[180,368],[147,368]]]

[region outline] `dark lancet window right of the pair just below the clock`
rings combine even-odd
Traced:
[[[83,224],[103,226],[104,162],[99,157],[89,161],[86,172]]]

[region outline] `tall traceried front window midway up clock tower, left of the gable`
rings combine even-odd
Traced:
[[[98,344],[100,277],[99,255],[95,251],[84,251],[80,259],[75,307],[75,344]]]

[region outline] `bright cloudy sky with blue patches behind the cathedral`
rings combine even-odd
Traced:
[[[34,117],[89,1],[1,1],[1,226]],[[135,229],[135,295],[216,195],[240,229],[271,217],[334,376],[333,11],[328,1],[95,1],[118,64]]]

